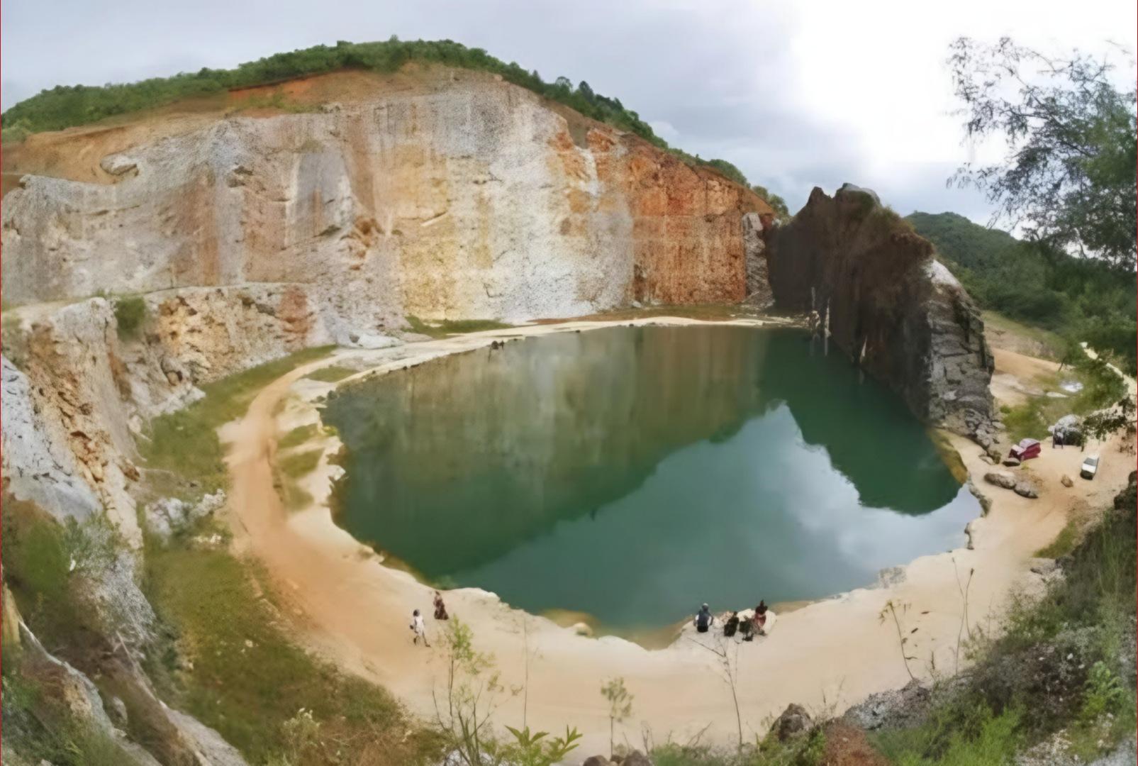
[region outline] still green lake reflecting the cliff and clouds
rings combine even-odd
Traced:
[[[901,401],[798,330],[514,340],[346,387],[324,420],[356,538],[617,631],[869,585],[980,514]]]

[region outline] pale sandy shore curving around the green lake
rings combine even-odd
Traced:
[[[340,352],[262,390],[247,415],[223,429],[231,447],[229,506],[239,547],[259,559],[278,580],[303,639],[341,667],[381,683],[414,713],[432,715],[431,691],[443,677],[439,626],[428,620],[432,649],[413,645],[407,628],[412,609],[430,613],[430,590],[406,573],[382,566],[370,549],[333,524],[322,501],[336,468],[324,460],[306,479],[316,501],[310,508],[288,513],[273,489],[271,460],[277,437],[313,421],[316,413],[308,400],[330,388],[303,379],[305,374],[330,363],[369,365],[382,373],[503,337],[629,323],[568,322],[376,352]],[[653,318],[635,323],[694,321]],[[282,400],[287,400],[283,410]],[[962,437],[949,438],[976,486],[991,500],[988,516],[972,524],[974,550],[962,547],[917,559],[889,586],[857,590],[797,609],[783,615],[766,639],[739,645],[737,691],[745,738],[765,733],[769,719],[790,702],[840,711],[873,692],[904,685],[909,675],[897,629],[880,619],[890,601],[898,604],[908,635],[906,651],[917,658],[909,662],[912,672],[929,677],[933,665],[938,672],[954,672],[964,613],[959,584],[970,570],[974,571],[970,626],[995,627],[1012,592],[1039,586],[1039,576],[1030,573],[1033,552],[1050,543],[1072,513],[1089,513],[1108,503],[1133,468],[1132,458],[1116,452],[1118,444],[1105,445],[1099,477],[1083,481],[1078,478],[1082,456],[1078,451],[1045,445],[1042,456],[1028,469],[1042,487],[1040,497],[1026,500],[986,485],[983,473],[992,468],[980,459],[980,447]],[[333,442],[329,439],[325,446],[333,447]],[[1064,473],[1074,478],[1074,487],[1062,486]],[[635,700],[632,717],[618,725],[618,740],[643,747],[644,732],[655,742],[686,741],[704,728],[704,739],[728,742],[735,738],[732,694],[717,658],[687,637],[650,651],[613,636],[576,635],[511,609],[483,591],[463,588],[445,596],[451,613],[472,626],[477,648],[494,653],[508,689],[521,686],[528,674],[527,694],[503,695],[495,716],[498,724],[521,725],[525,700],[525,718],[531,727],[561,731],[567,724],[576,725],[586,734],[578,750],[582,757],[602,752],[608,747],[609,724],[600,687],[608,678],[622,676]]]

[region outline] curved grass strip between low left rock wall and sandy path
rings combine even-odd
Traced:
[[[201,387],[205,397],[152,419],[139,452],[147,468],[183,477],[200,493],[225,486],[226,472],[217,428],[245,414],[257,392],[288,371],[322,359],[333,346],[306,348]]]

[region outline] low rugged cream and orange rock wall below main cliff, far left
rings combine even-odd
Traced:
[[[101,508],[140,541],[131,483],[135,434],[201,396],[201,384],[328,343],[306,286],[184,288],[146,296],[146,319],[119,337],[112,303],[5,314],[3,476],[17,500],[57,518]]]

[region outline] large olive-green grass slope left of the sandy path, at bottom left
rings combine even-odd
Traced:
[[[405,735],[413,726],[386,691],[286,636],[281,607],[254,567],[224,550],[154,541],[146,561],[147,595],[173,636],[151,659],[151,677],[250,764],[395,765],[429,755],[428,740]],[[311,720],[298,720],[299,708]],[[298,741],[302,725],[314,735]]]

